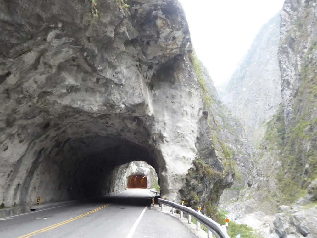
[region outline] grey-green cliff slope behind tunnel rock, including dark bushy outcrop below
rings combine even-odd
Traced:
[[[218,204],[219,197],[221,196],[222,201],[227,201],[232,198],[232,193],[226,190],[219,193],[219,190],[215,187],[223,187],[220,181],[211,186],[212,183],[210,184],[208,178],[214,180],[222,175],[217,172],[218,170],[210,169],[215,168],[215,165],[213,161],[206,158],[210,157],[209,153],[215,153],[217,158],[222,161],[224,170],[227,172],[233,171],[231,177],[227,177],[226,183],[230,187],[241,189],[247,180],[247,170],[249,169],[253,148],[246,138],[241,123],[219,100],[217,90],[207,69],[194,53],[190,56],[207,107],[207,111],[204,113],[207,121],[202,121],[202,123],[207,124],[211,129],[210,132],[206,132],[204,135],[205,125],[202,125],[201,136],[197,139],[204,141],[205,136],[212,138],[214,150],[201,148],[203,149],[200,154],[202,160],[194,161],[196,170],[191,169],[189,171],[186,177],[186,186],[181,189],[181,195],[185,201],[190,201],[191,207],[201,206],[205,214],[213,216],[218,213],[215,204]],[[209,168],[208,165],[211,165],[211,167]],[[210,191],[212,192],[209,193]],[[213,218],[216,219],[214,216]]]

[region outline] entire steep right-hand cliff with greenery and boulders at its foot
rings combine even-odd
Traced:
[[[253,154],[248,187],[228,207],[236,221],[262,230],[265,237],[317,236],[316,4],[287,0],[283,5],[282,103]]]

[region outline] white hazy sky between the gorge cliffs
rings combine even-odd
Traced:
[[[179,0],[198,58],[215,85],[228,81],[262,25],[284,0]]]

